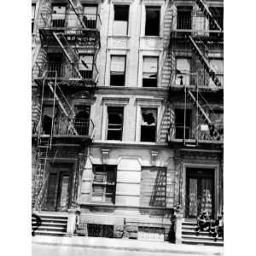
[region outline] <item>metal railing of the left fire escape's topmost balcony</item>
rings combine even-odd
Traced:
[[[58,14],[55,13],[44,13],[41,16],[44,20],[44,28],[57,30],[99,30],[102,25],[102,20],[98,14],[65,14],[58,17]],[[79,19],[83,20],[86,28],[83,27]]]

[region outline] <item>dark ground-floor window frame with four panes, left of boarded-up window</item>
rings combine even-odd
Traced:
[[[95,181],[96,177],[96,168],[102,167],[101,172],[105,172],[104,180],[102,182]],[[113,182],[108,183],[108,168],[113,168]],[[103,204],[115,204],[115,197],[116,197],[116,183],[117,183],[117,166],[114,165],[93,165],[92,166],[92,173],[93,173],[93,179],[91,182],[91,194],[90,194],[90,201],[91,202],[98,202]],[[93,199],[93,187],[94,186],[102,186],[103,188],[103,194],[102,194],[102,201],[96,201]],[[113,195],[112,195],[112,201],[106,201],[106,195],[107,195],[107,187],[111,186],[113,188]]]

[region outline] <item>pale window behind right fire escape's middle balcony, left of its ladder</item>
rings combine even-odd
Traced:
[[[190,59],[176,59],[176,85],[189,85]]]

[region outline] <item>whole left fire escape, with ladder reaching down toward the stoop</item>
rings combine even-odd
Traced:
[[[90,114],[86,119],[76,116],[70,95],[80,91],[91,99],[96,90],[101,20],[97,13],[84,13],[79,0],[67,2],[60,10],[53,9],[49,3],[50,11],[44,9],[40,14],[44,23],[38,29],[43,54],[38,57],[40,61],[36,62],[33,71],[41,96],[40,118],[32,131],[38,148],[32,193],[32,207],[36,210],[41,210],[46,194],[49,158],[55,160],[63,147],[76,148],[78,145],[80,154],[92,141],[95,131]],[[85,53],[84,57],[79,50]],[[57,52],[57,57],[48,58],[53,52]],[[49,99],[52,119],[44,119],[44,104]]]

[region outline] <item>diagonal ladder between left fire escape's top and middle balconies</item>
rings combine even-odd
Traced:
[[[80,79],[83,79],[83,76],[79,72],[79,67],[76,64],[79,63],[79,56],[76,54],[74,49],[68,44],[67,39],[63,35],[62,32],[53,32],[55,39],[57,40],[58,44],[60,44],[62,51],[67,57],[67,60],[71,63],[76,73],[79,75]]]

